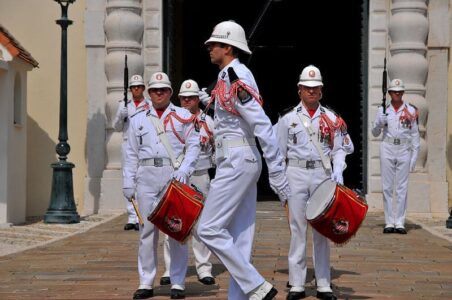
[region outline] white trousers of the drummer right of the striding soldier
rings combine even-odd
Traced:
[[[325,179],[329,178],[323,168],[305,169],[287,167],[292,197],[289,198],[289,284],[293,287],[303,287],[306,284],[306,244],[308,222],[306,220],[306,204],[314,189]],[[313,262],[317,290],[331,291],[330,273],[330,244],[326,237],[312,228]]]

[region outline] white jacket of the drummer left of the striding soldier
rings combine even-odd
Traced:
[[[168,137],[175,157],[179,157],[185,152],[179,170],[182,170],[190,176],[199,155],[199,133],[194,130],[192,122],[182,123],[175,117],[169,116],[173,112],[185,120],[192,118],[192,114],[188,110],[170,103],[159,119],[160,124],[164,126],[164,120],[171,118],[175,132],[173,131],[173,126],[168,123],[164,126],[165,134]],[[138,112],[130,118],[126,157],[123,167],[124,188],[135,188],[135,178],[140,160],[149,158],[170,159],[165,146],[162,144],[149,118],[158,118],[157,112],[152,105],[149,110]],[[182,138],[183,142],[179,138]]]

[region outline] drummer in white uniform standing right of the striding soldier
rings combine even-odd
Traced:
[[[304,68],[298,82],[300,103],[286,110],[275,125],[280,149],[287,161],[286,175],[292,191],[288,200],[291,231],[288,300],[306,297],[307,201],[324,180],[331,177],[337,183],[343,183],[346,125],[333,111],[320,105],[322,87],[320,70],[312,65]],[[312,135],[308,133],[311,130]],[[348,151],[353,150],[349,142],[346,143]],[[312,235],[317,298],[336,299],[331,290],[329,241],[314,228]]]

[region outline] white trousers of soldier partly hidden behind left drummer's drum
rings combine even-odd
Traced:
[[[209,174],[206,173],[202,175],[192,175],[190,177],[190,184],[196,186],[196,188],[204,194],[204,197],[207,197],[207,193],[209,192],[210,187],[210,178]],[[193,247],[193,255],[195,257],[195,265],[196,265],[196,273],[200,279],[204,277],[212,277],[212,263],[210,263],[210,250],[209,248],[201,242],[198,235],[196,234],[197,224],[195,224],[193,228],[193,238],[192,238],[192,247]],[[165,273],[163,276],[169,275],[169,266],[171,263],[171,257],[169,255],[169,243],[168,236],[165,235],[165,242],[163,244],[163,259],[165,260]]]

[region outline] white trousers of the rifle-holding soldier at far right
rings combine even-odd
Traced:
[[[381,180],[386,226],[404,227],[411,151],[407,144],[380,145]],[[395,185],[395,186],[394,186]],[[396,201],[393,203],[394,188]],[[395,207],[393,205],[395,204]]]

